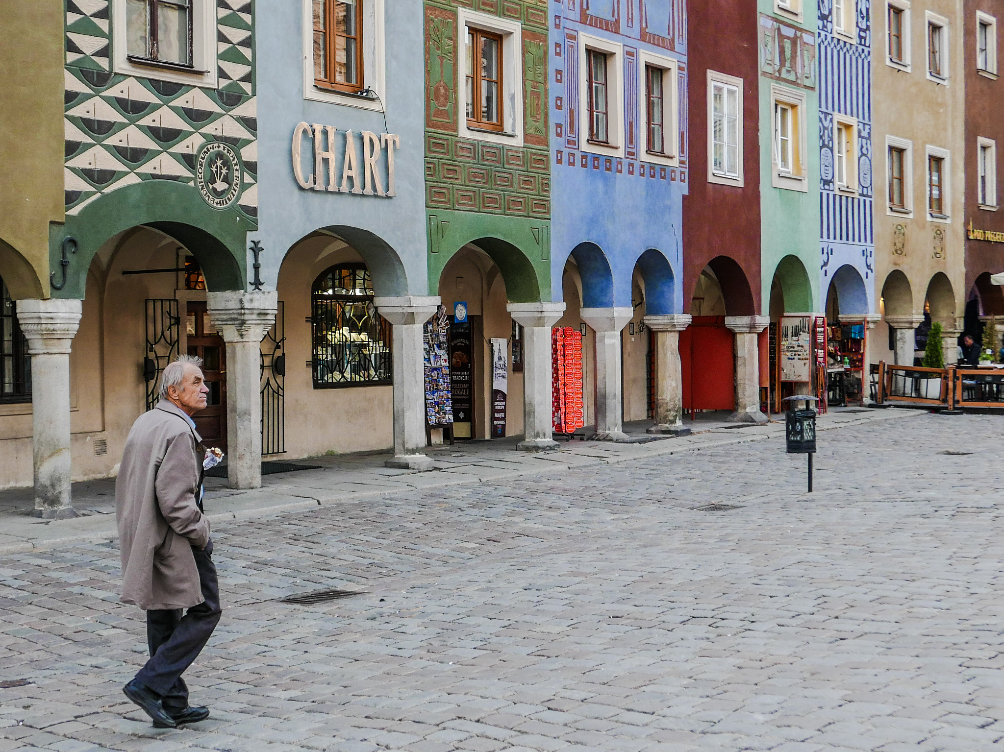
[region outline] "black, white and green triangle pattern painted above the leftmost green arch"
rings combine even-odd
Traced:
[[[111,72],[108,0],[66,0],[66,214],[141,180],[195,184],[203,143],[241,155],[238,210],[258,216],[250,0],[216,0],[219,88]]]

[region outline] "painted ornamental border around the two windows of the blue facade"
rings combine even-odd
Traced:
[[[570,15],[570,14],[569,14]],[[569,22],[570,21],[570,22]],[[558,24],[561,24],[559,27]],[[581,119],[579,106],[579,60],[578,31],[575,29],[574,18],[560,19],[555,17],[556,33],[560,35],[563,44],[554,44],[554,108],[555,145],[564,146],[554,153],[555,169],[557,165],[568,167],[584,167],[614,174],[638,175],[641,178],[667,180],[669,182],[687,182],[687,151],[682,148],[678,158],[678,167],[668,167],[660,164],[650,164],[644,161],[641,138],[644,136],[640,109],[644,106],[639,101],[639,89],[628,86],[624,91],[624,155],[626,158],[610,157],[585,153],[588,151],[588,141],[578,132]],[[624,45],[623,65],[624,79],[636,81],[639,77],[639,47]],[[680,125],[680,143],[687,143],[687,63],[678,58],[679,88],[677,101],[679,106],[678,120]],[[576,153],[576,149],[579,153]]]

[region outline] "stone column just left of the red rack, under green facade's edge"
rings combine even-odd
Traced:
[[[551,327],[564,303],[510,303],[506,310],[523,327],[523,440],[520,451],[558,448],[551,414]]]

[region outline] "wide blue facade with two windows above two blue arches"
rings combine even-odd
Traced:
[[[572,256],[582,278],[582,307],[626,307],[638,265],[646,313],[679,313],[688,185],[685,0],[550,5],[551,278],[561,279]],[[615,53],[622,65],[617,153],[587,142],[582,35],[621,45]],[[646,159],[645,53],[678,66],[674,161]],[[551,290],[561,301],[562,286],[555,282]]]

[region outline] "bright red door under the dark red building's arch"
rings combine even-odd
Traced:
[[[695,316],[680,333],[685,410],[735,410],[735,335],[724,316]]]

